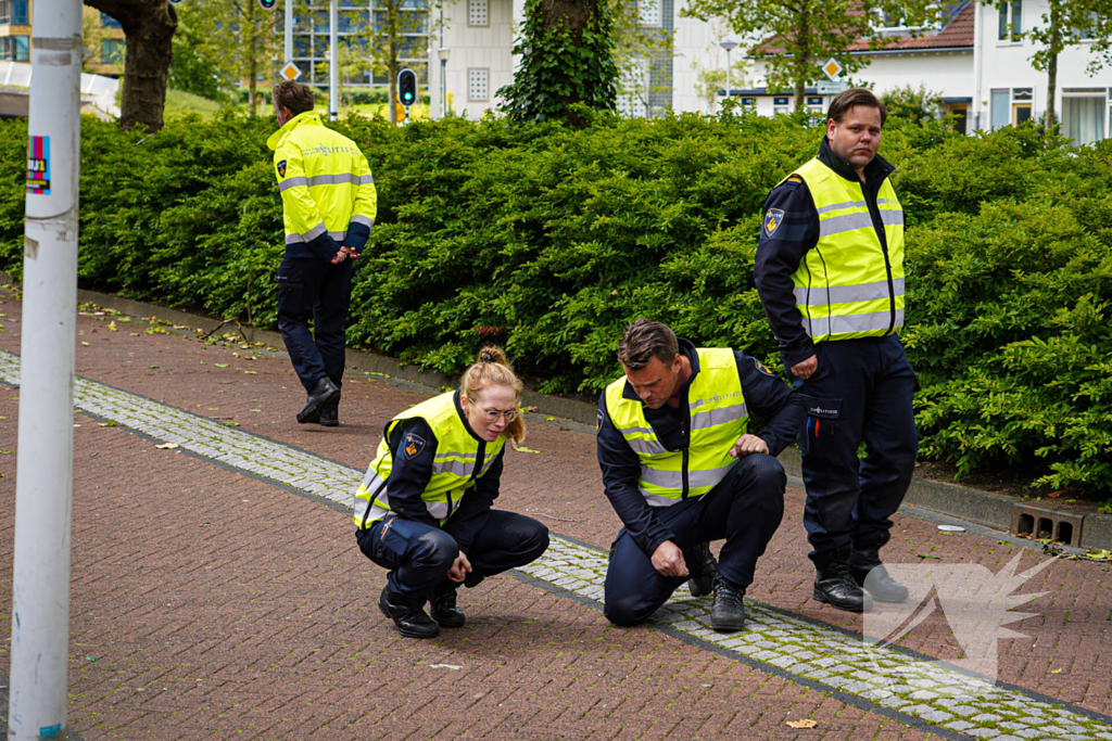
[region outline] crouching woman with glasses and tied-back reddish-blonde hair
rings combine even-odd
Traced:
[[[386,425],[355,499],[356,539],[389,570],[383,614],[409,638],[460,628],[456,588],[535,561],[548,529],[492,509],[506,440],[525,439],[522,382],[498,348],[484,348],[459,391],[401,412]],[[429,615],[425,613],[429,603]]]

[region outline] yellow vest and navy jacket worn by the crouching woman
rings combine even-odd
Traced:
[[[506,439],[487,442],[471,431],[459,392],[441,393],[387,422],[355,495],[363,530],[391,513],[443,527],[467,552],[498,498]]]

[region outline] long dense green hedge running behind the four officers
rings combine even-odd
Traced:
[[[82,284],[272,327],[272,122],[187,119],[153,137],[83,127]],[[339,128],[379,188],[354,344],[454,373],[493,339],[542,390],[594,393],[618,370],[624,324],[648,314],[778,366],[753,256],[766,192],[815,151],[812,122]],[[16,273],[26,136],[0,123],[0,267]],[[924,454],[1112,489],[1112,143],[893,120],[882,153],[907,211],[903,337]]]

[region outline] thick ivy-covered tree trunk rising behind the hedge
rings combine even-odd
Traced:
[[[503,110],[519,121],[564,120],[585,126],[575,110],[614,110],[618,68],[606,0],[527,0],[514,46],[522,63],[514,83],[498,90]]]

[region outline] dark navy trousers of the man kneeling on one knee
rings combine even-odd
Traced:
[[[735,587],[753,583],[757,559],[784,517],[784,468],[772,455],[746,455],[725,479],[703,494],[654,514],[674,535],[687,568],[699,543],[726,539],[718,554],[718,573]],[[610,547],[603,613],[616,625],[635,625],[668,601],[687,577],[665,577],[623,528]]]

